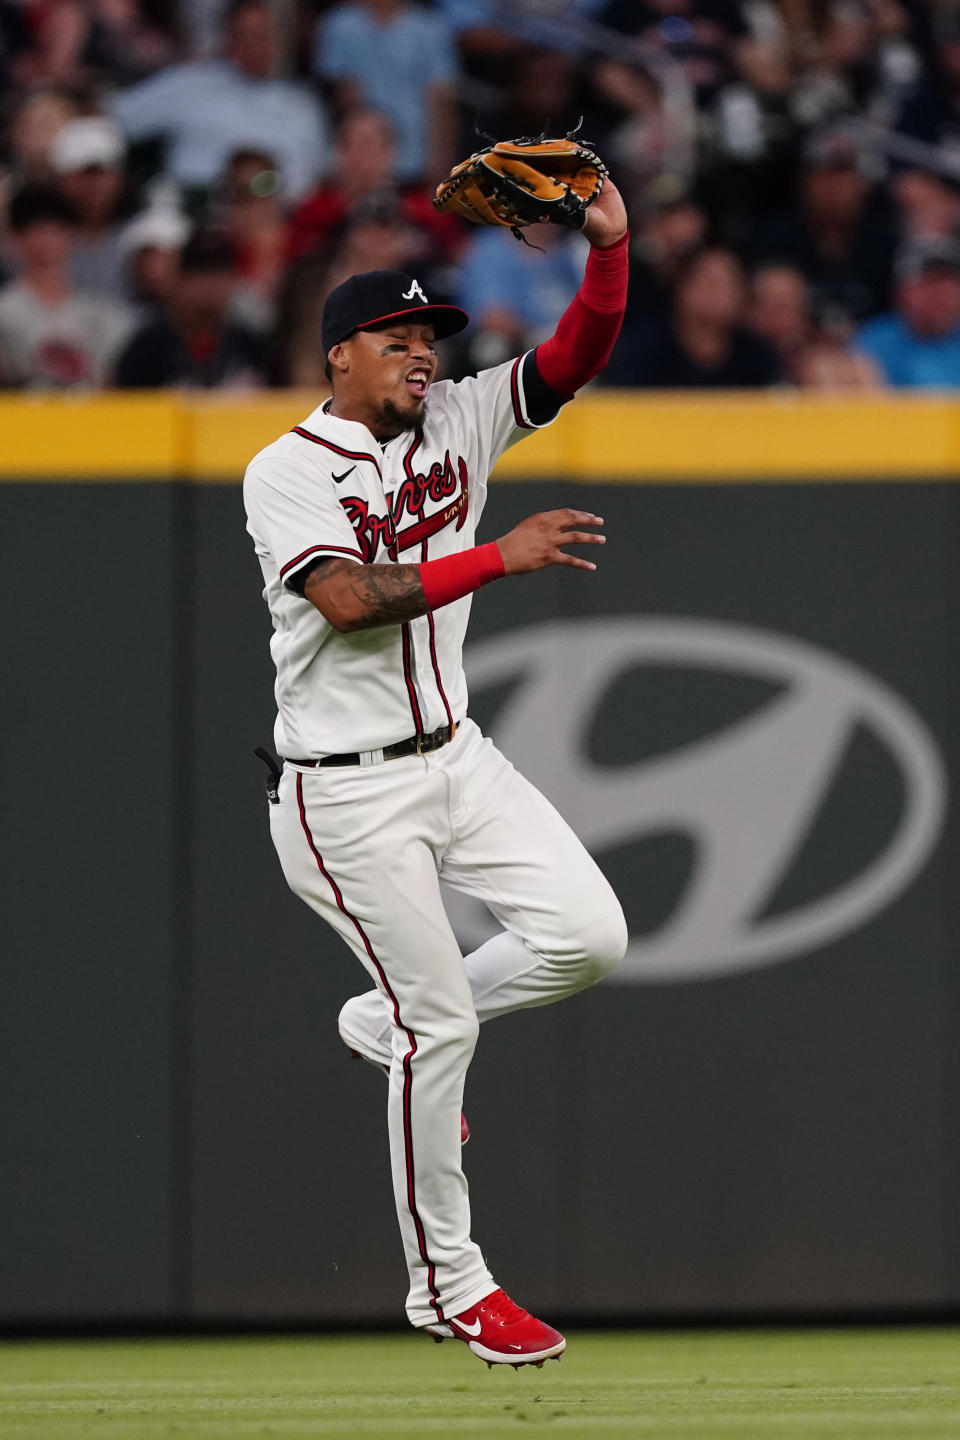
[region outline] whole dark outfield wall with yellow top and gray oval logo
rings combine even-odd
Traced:
[[[0,1322],[394,1320],[363,975],[285,888],[243,459],[315,403],[0,400]],[[596,575],[476,598],[472,713],[622,896],[622,972],[491,1025],[475,1233],[544,1313],[960,1305],[960,406],[597,396]],[[484,917],[456,906],[465,945]]]

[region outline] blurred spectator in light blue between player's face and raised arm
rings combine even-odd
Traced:
[[[531,225],[524,235],[528,245],[510,230],[482,229],[463,251],[456,302],[471,317],[471,369],[545,340],[580,287],[586,242],[579,235],[556,225]]]

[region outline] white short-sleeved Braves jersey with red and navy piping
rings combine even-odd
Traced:
[[[325,402],[248,465],[248,530],[273,621],[279,755],[377,750],[463,719],[469,595],[403,625],[341,635],[296,579],[324,556],[417,564],[474,546],[491,469],[538,428],[524,387],[530,364],[533,356],[436,382],[422,428],[383,445]],[[537,413],[543,423],[543,402]]]

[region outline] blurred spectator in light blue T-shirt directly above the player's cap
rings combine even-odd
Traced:
[[[317,30],[317,73],[338,109],[374,105],[397,132],[399,180],[436,184],[453,160],[456,55],[442,16],[407,0],[348,0]]]

